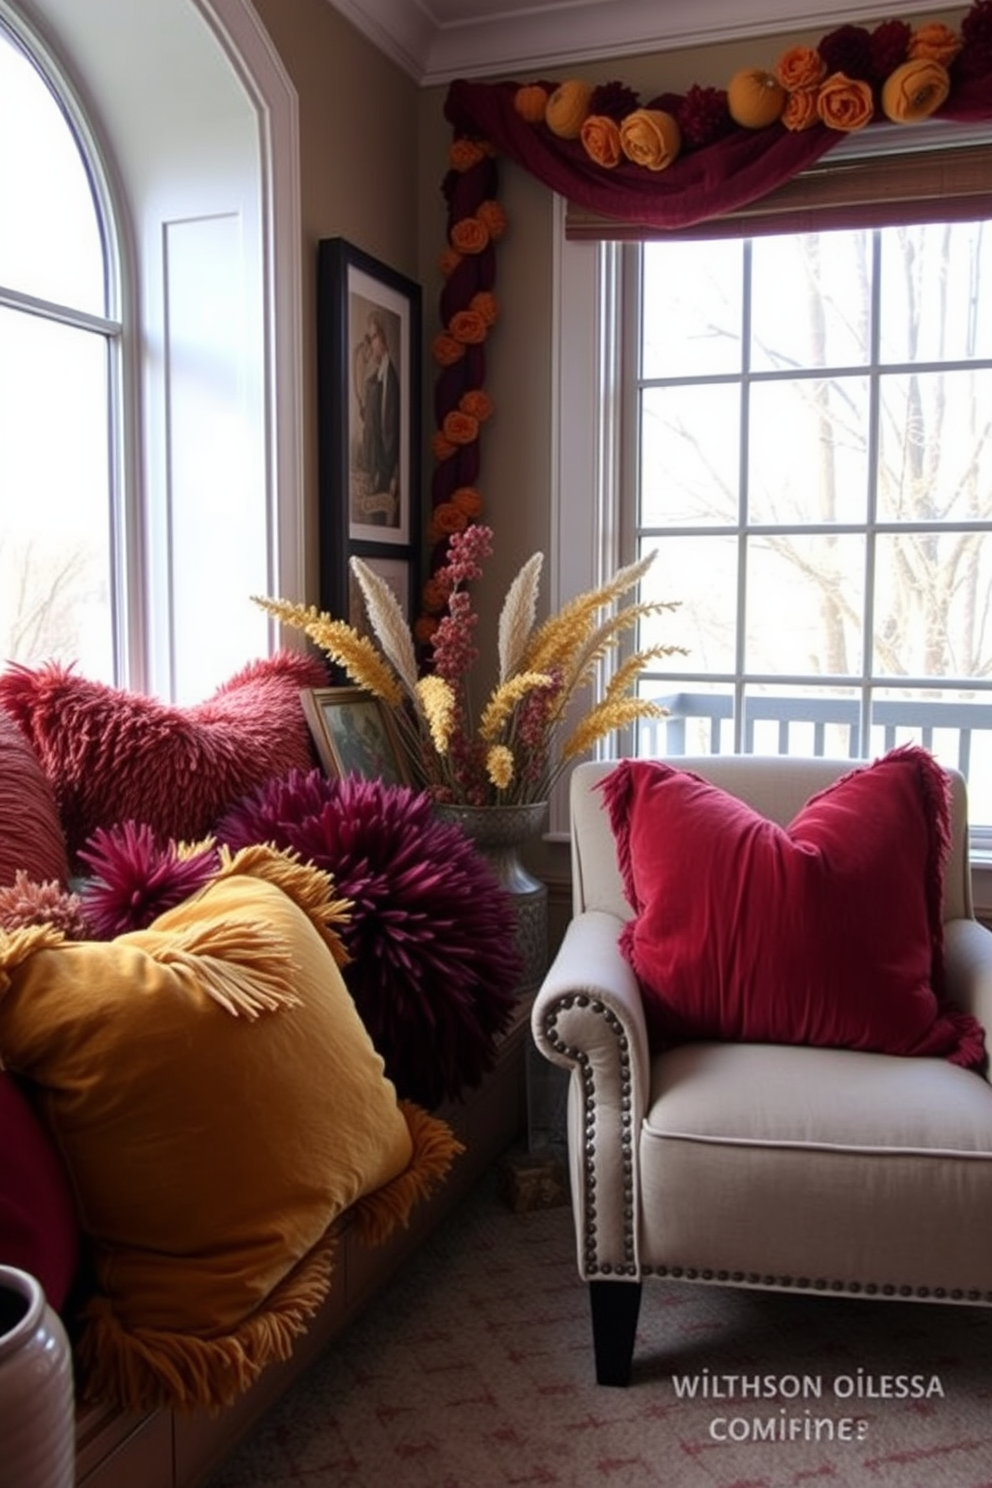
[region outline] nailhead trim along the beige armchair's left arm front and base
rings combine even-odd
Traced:
[[[595,1074],[589,1064],[589,1055],[582,1049],[573,1049],[558,1037],[558,1009],[589,1007],[599,1018],[605,1018],[608,1027],[617,1034],[617,1051],[620,1059],[620,1153],[623,1164],[623,1265],[599,1263],[596,1250],[596,1171],[595,1171]],[[634,1248],[634,1117],[631,1113],[631,1046],[623,1031],[623,1024],[617,1015],[598,998],[586,997],[582,992],[559,998],[555,1007],[544,1015],[544,1037],[571,1064],[582,1071],[583,1089],[583,1170],[586,1174],[584,1198],[584,1237],[586,1237],[586,1274],[589,1277],[671,1277],[675,1281],[717,1281],[727,1286],[761,1286],[761,1287],[797,1287],[800,1292],[833,1292],[848,1296],[883,1296],[883,1298],[916,1298],[935,1302],[974,1302],[992,1306],[992,1292],[980,1292],[976,1287],[967,1292],[962,1287],[909,1287],[894,1286],[889,1281],[836,1281],[825,1277],[767,1277],[750,1271],[699,1271],[695,1266],[641,1266],[637,1265]]]

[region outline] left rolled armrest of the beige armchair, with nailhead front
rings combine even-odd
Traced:
[[[568,1149],[579,1271],[640,1277],[638,1140],[650,1052],[637,978],[619,948],[623,921],[577,915],[534,1000],[540,1052],[573,1071]]]

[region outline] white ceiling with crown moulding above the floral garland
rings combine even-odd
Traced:
[[[885,0],[330,0],[418,83],[540,76],[565,62],[879,19]],[[903,0],[901,16],[956,9]],[[745,13],[742,15],[742,10]]]

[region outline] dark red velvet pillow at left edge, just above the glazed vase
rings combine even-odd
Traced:
[[[36,1277],[58,1312],[79,1247],[65,1165],[19,1083],[0,1070],[0,1263]]]

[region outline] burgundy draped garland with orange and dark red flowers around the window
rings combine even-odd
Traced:
[[[571,201],[622,220],[680,228],[759,199],[875,122],[992,118],[992,0],[959,31],[940,21],[873,30],[845,24],[815,48],[791,46],[770,67],[745,67],[726,88],[693,85],[641,103],[622,82],[452,83],[454,128],[442,190],[442,330],[431,452],[430,574],[416,640],[427,646],[448,601],[439,580],[448,537],[483,516],[479,491],[485,345],[497,324],[495,244],[501,150]]]

